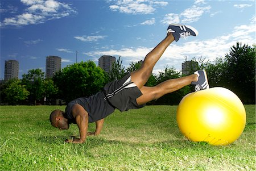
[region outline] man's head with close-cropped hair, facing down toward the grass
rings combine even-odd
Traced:
[[[64,112],[59,109],[53,110],[49,119],[53,127],[59,128],[60,130],[68,130],[68,119],[64,118],[63,114]]]

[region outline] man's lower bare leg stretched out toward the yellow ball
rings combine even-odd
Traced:
[[[172,93],[184,86],[190,85],[191,82],[196,82],[198,78],[197,74],[192,74],[190,76],[164,81],[154,87],[143,86],[141,88],[143,95],[137,98],[137,103],[138,105],[143,105],[144,103],[158,99],[165,94]]]

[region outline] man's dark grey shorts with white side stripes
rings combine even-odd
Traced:
[[[108,101],[120,111],[139,109],[146,104],[138,105],[136,99],[142,95],[141,90],[131,82],[131,74],[121,80],[109,82],[104,87],[105,101]]]

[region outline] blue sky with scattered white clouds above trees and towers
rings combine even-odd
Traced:
[[[154,68],[181,70],[193,57],[224,57],[237,41],[255,44],[255,1],[1,0],[1,70],[19,61],[19,78],[45,71],[46,56],[60,56],[62,68],[102,55],[121,56],[123,65],[143,60],[165,36],[169,23],[195,27],[197,37],[167,48]]]

